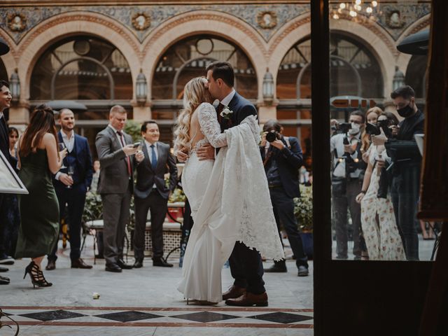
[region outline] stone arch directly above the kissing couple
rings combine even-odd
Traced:
[[[238,45],[251,60],[258,80],[258,101],[262,101],[262,78],[267,53],[265,42],[253,27],[227,13],[195,10],[176,15],[155,29],[144,41],[142,68],[151,83],[158,59],[174,43],[196,34],[211,34]],[[151,97],[148,85],[148,97]]]

